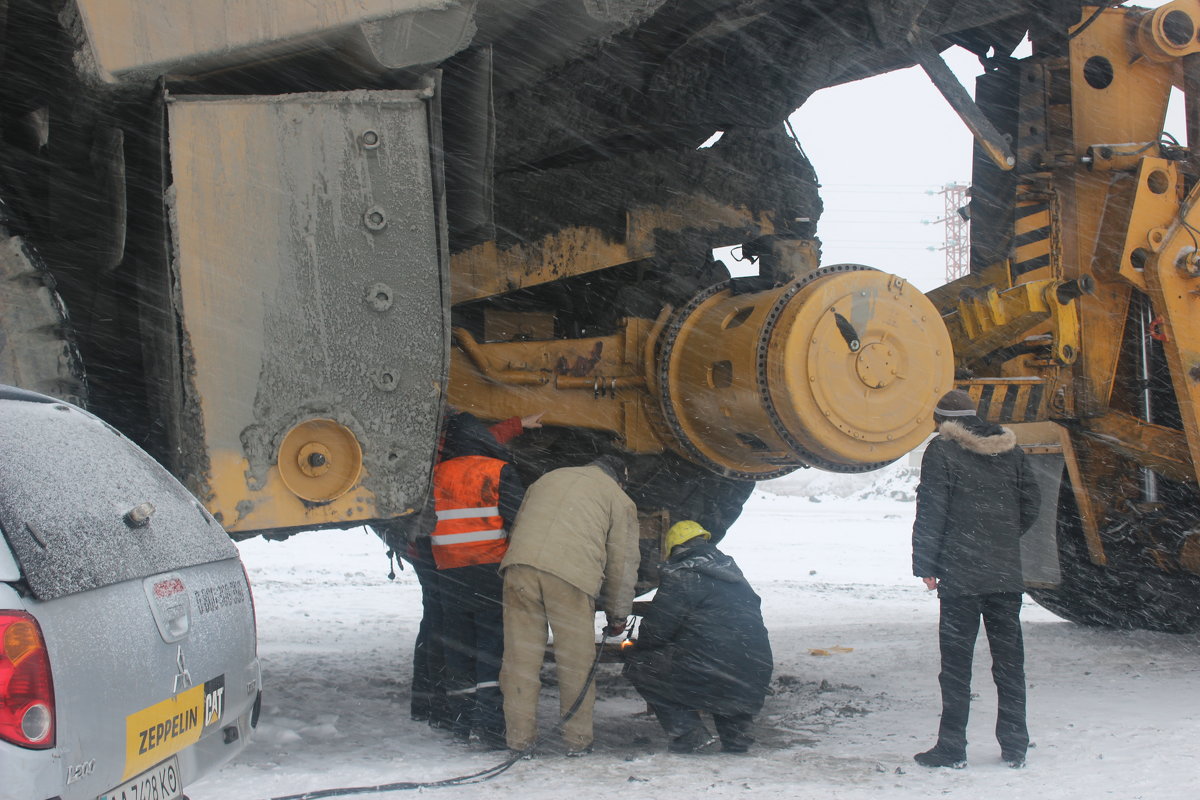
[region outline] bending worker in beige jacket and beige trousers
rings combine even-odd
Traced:
[[[538,692],[547,625],[554,634],[562,714],[583,691],[595,658],[596,599],[607,631],[625,628],[637,579],[637,509],[625,494],[625,464],[601,456],[546,473],[526,492],[500,563],[504,661],[500,691],[511,750],[538,738]],[[595,687],[563,729],[568,756],[592,750]]]

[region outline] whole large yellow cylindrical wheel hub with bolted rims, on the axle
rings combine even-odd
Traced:
[[[743,480],[895,461],[932,432],[954,374],[934,303],[857,264],[758,293],[713,287],[680,309],[659,353],[668,441]]]

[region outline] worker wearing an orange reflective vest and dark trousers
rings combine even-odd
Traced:
[[[450,728],[461,741],[475,733],[497,750],[505,747],[499,563],[524,498],[508,458],[482,422],[457,414],[446,423],[442,461],[433,468],[437,524],[431,543],[440,584]]]

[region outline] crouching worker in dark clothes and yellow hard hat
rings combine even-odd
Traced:
[[[713,715],[721,750],[746,752],[770,682],[758,595],[709,539],[690,521],[667,531],[659,590],[625,662],[625,676],[671,736],[673,753],[713,741],[700,711]]]

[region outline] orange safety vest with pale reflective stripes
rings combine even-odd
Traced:
[[[439,570],[497,564],[508,549],[499,515],[500,470],[505,462],[462,456],[433,468],[433,560]]]

